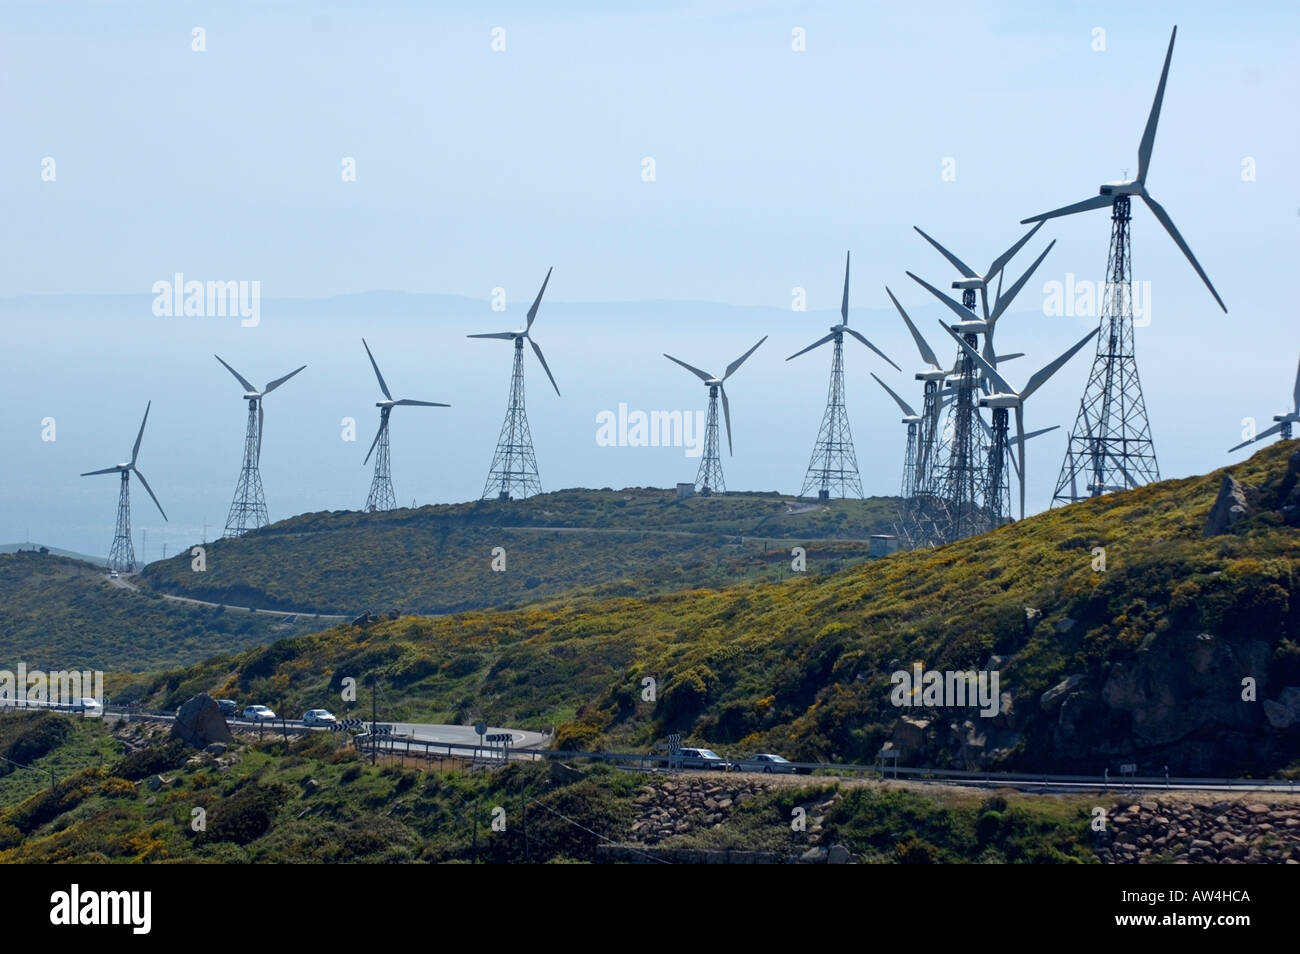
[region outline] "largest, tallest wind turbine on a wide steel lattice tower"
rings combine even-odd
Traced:
[[[1123,474],[1124,480],[1134,485],[1160,480],[1156,445],[1150,435],[1150,424],[1147,420],[1147,404],[1141,394],[1134,347],[1128,235],[1134,196],[1147,203],[1152,214],[1174,239],[1196,274],[1201,277],[1218,307],[1225,313],[1227,312],[1227,305],[1223,304],[1223,299],[1214,290],[1205,269],[1201,268],[1196,256],[1192,255],[1192,250],[1174,226],[1165,207],[1147,191],[1147,173],[1150,169],[1156,126],[1160,122],[1160,109],[1165,100],[1165,83],[1169,81],[1169,64],[1174,56],[1174,39],[1176,36],[1178,27],[1175,26],[1169,35],[1169,49],[1165,51],[1165,65],[1160,71],[1160,83],[1156,86],[1156,99],[1147,116],[1147,127],[1138,144],[1138,175],[1122,182],[1108,182],[1091,199],[1022,220],[1022,224],[1027,225],[1075,212],[1110,209],[1110,252],[1100,321],[1100,329],[1105,334],[1097,339],[1097,354],[1093,357],[1083,400],[1079,403],[1079,417],[1070,433],[1066,456],[1061,464],[1061,474],[1052,496],[1053,507],[1078,499],[1078,477],[1089,471],[1091,478],[1087,486],[1093,496],[1105,493],[1106,487],[1123,486],[1118,482],[1119,474]],[[1112,468],[1110,464],[1114,467]]]

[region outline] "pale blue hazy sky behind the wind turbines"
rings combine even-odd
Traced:
[[[1242,417],[1264,426],[1288,409],[1300,352],[1278,281],[1300,252],[1300,16],[1290,3],[1050,6],[6,0],[0,542],[30,528],[107,550],[112,480],[75,474],[129,456],[150,399],[140,464],[170,502],[173,546],[221,522],[243,412],[213,351],[257,383],[311,365],[268,399],[272,516],[360,506],[376,396],[361,334],[395,393],[456,406],[398,412],[398,498],[476,496],[510,355],[463,335],[521,321],[550,265],[538,341],[563,398],[529,357],[546,487],[693,477],[680,451],[595,447],[594,415],[620,400],[702,407],[659,352],[719,370],[771,334],[732,391],[728,483],[796,491],[829,355],[783,359],[824,333],[831,312],[815,312],[838,303],[845,250],[855,326],[913,370],[884,285],[933,329],[939,312],[904,272],[953,274],[910,226],[983,266],[1019,218],[1132,174],[1175,22],[1148,187],[1228,315],[1135,207],[1134,274],[1152,289],[1139,365],[1162,471],[1221,465]],[[1057,239],[1000,329],[1000,350],[1028,354],[1008,365],[1014,382],[1095,324],[1045,316],[1044,283],[1101,279],[1108,225],[1105,212],[1058,220],[1026,250]],[[153,283],[177,272],[260,282],[261,324],[153,316]],[[495,287],[506,315],[489,307]],[[792,311],[794,287],[809,313]],[[372,290],[460,298],[294,300]],[[47,295],[100,298],[27,298]],[[866,372],[911,382],[858,346],[849,360],[864,483],[893,493],[902,429]],[[1031,404],[1034,426],[1069,426],[1087,361]],[[339,439],[346,415],[355,445]],[[1031,508],[1063,443],[1039,441]],[[156,524],[155,539],[146,503],[136,524]]]

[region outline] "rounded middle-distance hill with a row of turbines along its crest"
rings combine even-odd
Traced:
[[[309,612],[445,613],[560,594],[645,595],[788,574],[803,543],[814,569],[866,559],[892,533],[892,498],[835,500],[788,513],[790,498],[668,490],[562,490],[526,500],[306,513],[213,541],[207,571],[182,552],[150,564],[162,593]],[[810,541],[823,541],[812,543]],[[845,541],[835,543],[833,541]],[[493,550],[506,551],[493,572]]]

